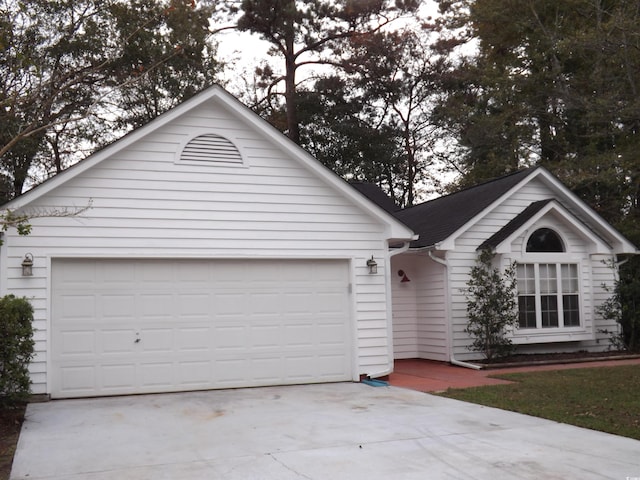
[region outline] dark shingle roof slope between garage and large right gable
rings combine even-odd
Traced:
[[[412,248],[430,247],[445,240],[473,217],[529,176],[537,167],[519,170],[504,177],[436,198],[395,212],[395,217],[420,238]]]

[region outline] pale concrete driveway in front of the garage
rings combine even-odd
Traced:
[[[640,477],[640,442],[340,383],[31,404],[12,479]]]

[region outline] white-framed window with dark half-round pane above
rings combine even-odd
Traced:
[[[565,252],[553,230],[541,228],[527,242],[527,253]],[[578,264],[541,261],[517,266],[521,329],[580,326]]]

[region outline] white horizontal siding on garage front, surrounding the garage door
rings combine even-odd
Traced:
[[[179,146],[198,132],[229,138],[244,165],[176,164]],[[35,209],[91,208],[77,217],[37,218],[29,236],[7,232],[3,293],[36,306],[34,393],[47,391],[49,265],[56,257],[351,259],[356,372],[389,368],[384,275],[385,225],[305,165],[230,118],[202,105],[39,199]],[[34,256],[34,276],[20,263]]]

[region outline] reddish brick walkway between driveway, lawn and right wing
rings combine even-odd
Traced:
[[[433,360],[396,360],[395,371],[389,375],[389,383],[395,387],[409,388],[421,392],[440,392],[447,388],[468,388],[510,383],[506,380],[489,378],[490,375],[498,375],[501,373],[610,367],[617,365],[640,365],[640,358],[488,370],[472,370],[470,368],[457,367],[449,363],[436,362]]]

